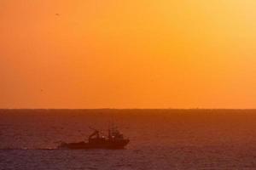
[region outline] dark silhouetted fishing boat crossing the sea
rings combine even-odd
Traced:
[[[58,149],[69,150],[91,150],[91,149],[103,149],[103,150],[122,150],[130,142],[129,139],[125,139],[124,135],[119,132],[117,127],[108,129],[108,138],[100,136],[100,132],[94,129],[94,133],[91,133],[88,142],[78,143],[65,143],[62,142]]]

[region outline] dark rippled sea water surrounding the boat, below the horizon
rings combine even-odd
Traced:
[[[112,120],[126,150],[55,150]],[[0,169],[256,169],[256,111],[0,110]]]

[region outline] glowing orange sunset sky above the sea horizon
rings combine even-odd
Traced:
[[[256,108],[255,0],[0,0],[0,108]]]

